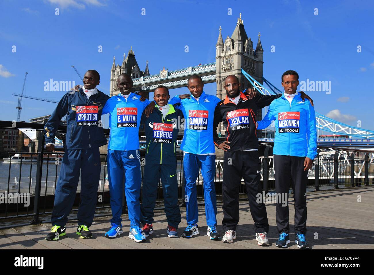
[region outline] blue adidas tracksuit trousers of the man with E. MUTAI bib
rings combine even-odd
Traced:
[[[130,226],[140,226],[141,169],[139,150],[108,150],[108,180],[111,223],[121,224],[123,182],[129,212]]]

